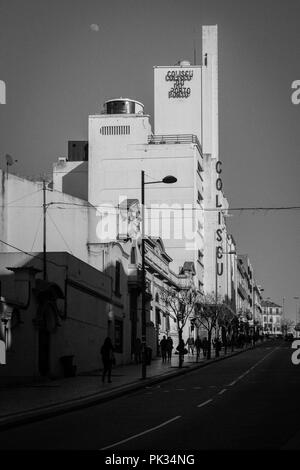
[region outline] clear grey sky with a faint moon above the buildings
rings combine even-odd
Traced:
[[[50,173],[88,115],[112,97],[153,116],[153,66],[201,57],[201,27],[219,31],[220,159],[232,208],[300,206],[299,0],[0,0],[0,165]],[[153,121],[152,121],[153,124]],[[295,320],[300,211],[233,211],[230,229],[264,296]]]

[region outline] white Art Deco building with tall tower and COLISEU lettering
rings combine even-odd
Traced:
[[[194,264],[201,292],[231,298],[234,259],[226,253],[234,247],[219,159],[217,26],[203,27],[202,51],[201,65],[154,67],[154,131],[143,104],[133,99],[108,100],[89,116],[88,161],[59,162],[54,188],[93,206],[107,204],[113,214],[122,200],[140,200],[142,170],[149,183],[175,176],[173,185],[146,186],[146,234],[164,240],[174,271]]]

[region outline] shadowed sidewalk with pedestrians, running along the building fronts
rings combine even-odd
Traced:
[[[236,349],[233,353],[228,351],[226,356],[222,351],[219,358],[215,358],[212,351],[212,359],[207,360],[201,354],[198,362],[196,355],[186,355],[181,369],[178,368],[178,355],[166,364],[162,364],[160,358],[154,359],[147,366],[147,378],[144,380],[141,379],[141,365],[129,364],[113,369],[112,383],[103,384],[101,372],[95,371],[45,383],[0,388],[0,429],[111,400],[248,349]]]

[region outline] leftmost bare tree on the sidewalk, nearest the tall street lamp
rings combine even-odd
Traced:
[[[188,319],[195,313],[195,309],[200,302],[200,294],[195,289],[194,285],[190,283],[186,288],[182,288],[180,290],[165,287],[161,291],[161,299],[176,321],[179,346],[179,367],[182,367],[184,359],[184,342],[182,339],[182,333]]]

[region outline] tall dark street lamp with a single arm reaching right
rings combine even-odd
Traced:
[[[146,184],[173,184],[176,183],[175,176],[165,176],[160,181],[145,182],[145,172],[141,172],[141,190],[142,190],[142,379],[146,378],[147,358],[146,358],[146,271],[145,271],[145,185]]]

